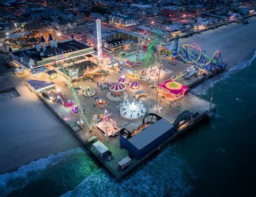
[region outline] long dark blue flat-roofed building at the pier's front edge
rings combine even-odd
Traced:
[[[129,151],[131,157],[140,159],[173,134],[174,126],[166,119],[161,118],[129,139],[125,135],[120,135],[120,146]]]

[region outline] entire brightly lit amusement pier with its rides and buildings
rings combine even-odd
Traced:
[[[140,34],[133,51],[122,45],[119,53],[107,55],[100,20],[96,25],[97,52],[73,35],[57,41],[49,34],[34,47],[10,48],[9,53],[15,79],[122,182],[193,125],[212,117],[212,98],[206,101],[190,90],[226,65],[220,51],[208,54],[196,43],[180,44],[178,35],[170,48],[161,25]]]

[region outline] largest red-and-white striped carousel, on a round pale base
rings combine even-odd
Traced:
[[[126,100],[127,93],[124,91],[125,86],[122,83],[114,82],[109,85],[110,92],[106,94],[106,97],[111,101]]]

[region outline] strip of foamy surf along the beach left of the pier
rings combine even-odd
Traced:
[[[0,175],[0,195],[6,196],[12,191],[23,187],[28,182],[36,180],[38,174],[43,172],[48,166],[58,163],[71,154],[83,153],[84,149],[78,147],[65,152],[59,152],[56,155],[50,154],[47,158],[41,158],[32,161],[28,165],[21,166],[18,171]]]

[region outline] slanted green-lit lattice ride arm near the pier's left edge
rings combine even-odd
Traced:
[[[70,88],[70,90],[71,90],[71,92],[72,92],[72,95],[73,95],[73,98],[74,98],[74,100],[75,100],[75,103],[77,104],[80,128],[82,129],[82,124],[83,124],[83,122],[85,122],[85,124],[86,124],[86,125],[88,126],[88,128],[89,128],[90,126],[89,126],[89,123],[88,123],[87,118],[86,118],[86,116],[85,116],[85,112],[84,112],[84,110],[83,110],[83,107],[82,107],[82,105],[80,104],[80,101],[79,101],[79,98],[78,98],[78,95],[77,95],[77,91],[75,90],[75,88],[73,88],[72,83],[71,83],[70,79],[68,78],[68,73],[66,72],[66,69],[65,69],[65,67],[63,66],[63,64],[59,62],[59,65],[62,67],[62,71],[63,71],[63,73],[66,75],[66,79],[67,79],[67,81],[68,81],[68,83],[69,83],[69,88]]]

